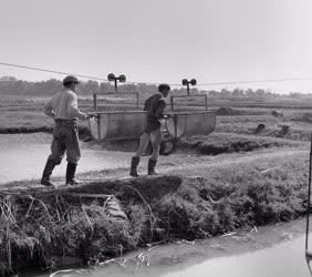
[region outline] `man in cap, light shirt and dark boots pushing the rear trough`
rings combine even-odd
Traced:
[[[77,107],[77,95],[75,94],[77,84],[75,76],[66,76],[63,80],[64,90],[56,93],[43,107],[43,112],[55,122],[51,155],[48,157],[41,178],[41,184],[44,186],[53,186],[50,176],[55,165],[61,164],[65,151],[67,156],[66,185],[77,184],[74,176],[81,154],[76,121],[84,121],[92,116],[81,112]]]

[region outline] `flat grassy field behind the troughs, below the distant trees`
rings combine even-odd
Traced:
[[[11,132],[18,132],[19,129],[28,130],[39,130],[40,129],[51,129],[53,121],[42,113],[42,107],[49,99],[44,98],[17,98],[17,96],[0,96],[0,132],[6,133],[6,130],[11,130]],[[139,109],[143,106],[143,99],[139,102]],[[100,111],[112,111],[112,110],[134,110],[135,101],[128,99],[105,99],[98,98],[98,110]],[[211,102],[211,103],[210,103]],[[282,117],[274,117],[272,111],[274,107],[270,107],[271,103],[268,102],[266,107],[264,103],[257,106],[257,101],[253,103],[247,102],[254,106],[238,106],[238,101],[223,101],[223,105],[218,103],[218,101],[210,101],[209,110],[217,112],[217,126],[216,132],[227,132],[237,134],[253,134],[254,130],[259,124],[264,124],[266,129],[263,134],[268,136],[279,136],[280,125],[289,125],[289,133],[285,138],[291,140],[309,140],[310,124],[312,122],[312,112],[308,110],[309,103],[292,103],[293,107],[284,106],[288,104],[280,103],[281,107],[278,110],[283,113]],[[216,103],[215,103],[216,102]],[[246,101],[245,101],[246,102]],[[202,110],[202,103],[197,103],[194,101],[181,102],[178,105],[177,111],[194,111]],[[220,104],[220,105],[218,105]],[[258,103],[259,104],[259,103]],[[199,106],[201,105],[201,107]],[[226,110],[228,113],[218,113],[220,106],[231,106]],[[93,99],[83,98],[80,100],[80,107],[84,112],[93,111]],[[311,105],[312,107],[312,105]],[[168,105],[169,111],[169,105]],[[82,123],[86,125],[86,123]]]

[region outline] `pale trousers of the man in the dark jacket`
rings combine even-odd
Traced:
[[[137,152],[135,153],[135,157],[141,157],[143,155],[143,153],[145,152],[148,142],[150,140],[152,143],[152,147],[153,147],[153,153],[150,158],[154,161],[157,161],[158,155],[159,155],[159,147],[160,147],[160,143],[162,143],[162,132],[160,130],[155,130],[155,131],[150,131],[147,132],[145,131],[141,137],[139,137],[139,146]]]

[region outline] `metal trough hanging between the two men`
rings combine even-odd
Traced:
[[[119,111],[98,112],[90,119],[89,126],[92,137],[104,140],[131,140],[137,138],[145,130],[146,112]]]

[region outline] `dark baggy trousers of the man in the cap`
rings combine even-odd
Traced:
[[[77,164],[81,153],[79,146],[77,125],[74,121],[55,120],[53,141],[49,160],[60,164],[66,151],[67,162]]]

